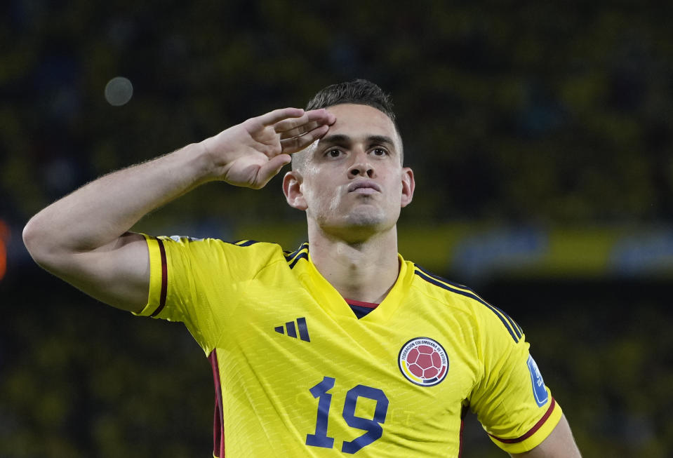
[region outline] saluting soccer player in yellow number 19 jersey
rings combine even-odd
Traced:
[[[129,232],[199,184],[259,189],[291,161],[293,252]],[[213,366],[214,457],[456,457],[468,409],[513,457],[578,457],[519,325],[398,254],[413,191],[389,98],[358,80],[101,177],[24,241],[102,302],[185,323]]]

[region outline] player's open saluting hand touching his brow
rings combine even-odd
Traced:
[[[290,163],[290,154],[325,135],[335,119],[326,109],[281,108],[223,130],[201,145],[217,180],[260,189]]]

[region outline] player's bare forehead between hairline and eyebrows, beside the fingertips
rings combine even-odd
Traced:
[[[383,112],[369,105],[352,103],[334,105],[326,108],[336,116],[336,121],[330,127],[328,135],[348,135],[349,137],[367,137],[370,135],[385,135],[398,143],[399,136],[392,120]]]

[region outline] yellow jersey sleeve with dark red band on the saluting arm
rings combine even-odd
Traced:
[[[236,307],[237,292],[261,269],[263,256],[247,245],[213,238],[143,235],[149,250],[149,297],[136,315],[185,323],[210,353],[218,328],[221,332]]]

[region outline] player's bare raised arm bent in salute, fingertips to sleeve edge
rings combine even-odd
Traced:
[[[32,217],[24,243],[55,276],[106,304],[140,311],[149,292],[149,254],[144,238],[128,232],[133,224],[205,182],[260,189],[332,123],[324,109],[277,109],[248,119],[86,184]]]

